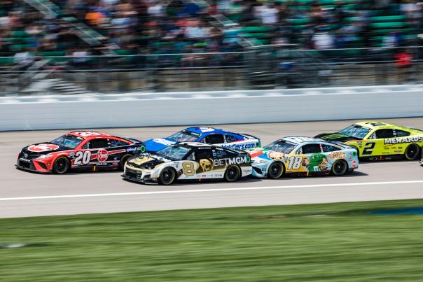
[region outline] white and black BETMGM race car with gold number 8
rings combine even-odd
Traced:
[[[204,143],[181,142],[131,157],[122,177],[146,184],[169,185],[176,180],[225,179],[251,175],[251,157],[240,150]]]

